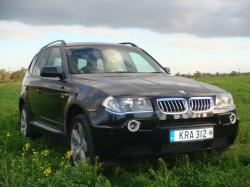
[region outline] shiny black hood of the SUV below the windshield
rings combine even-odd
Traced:
[[[225,92],[215,86],[192,79],[160,73],[84,74],[73,75],[73,80],[108,95],[208,96]]]

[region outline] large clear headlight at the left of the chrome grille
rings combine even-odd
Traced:
[[[146,97],[107,97],[102,105],[116,114],[153,112],[151,101]]]

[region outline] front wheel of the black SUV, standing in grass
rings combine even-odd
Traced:
[[[68,135],[69,149],[72,151],[72,164],[77,166],[79,163],[95,163],[94,144],[85,115],[75,116],[71,122]]]

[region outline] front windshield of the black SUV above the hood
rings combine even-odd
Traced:
[[[84,73],[164,73],[149,55],[122,46],[67,48],[70,72]]]

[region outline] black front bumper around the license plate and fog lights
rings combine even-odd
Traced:
[[[231,124],[229,115],[218,114],[207,118],[166,119],[157,117],[147,119],[136,118],[141,122],[137,132],[129,132],[127,121],[118,120],[119,126],[94,127],[93,135],[98,155],[108,156],[146,156],[172,153],[186,153],[206,149],[224,148],[232,145],[236,139],[239,120]],[[170,142],[170,130],[213,127],[214,138],[195,142]]]

